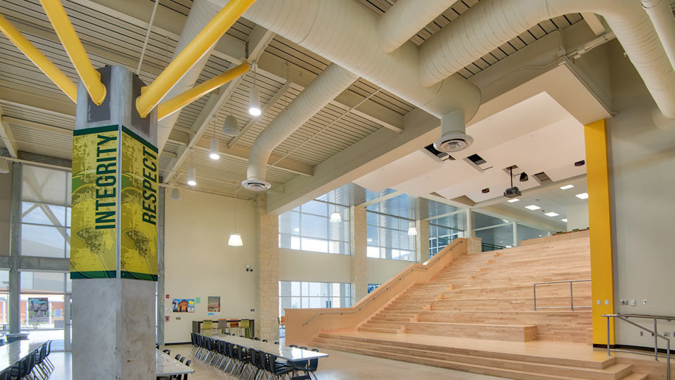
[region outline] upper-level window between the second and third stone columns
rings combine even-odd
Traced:
[[[408,235],[412,220],[366,212],[369,258],[415,261],[415,236]]]

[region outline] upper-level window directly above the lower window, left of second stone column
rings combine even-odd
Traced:
[[[349,255],[349,208],[314,200],[279,215],[279,248]]]

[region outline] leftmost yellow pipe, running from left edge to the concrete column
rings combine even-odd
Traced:
[[[56,65],[49,61],[33,44],[28,41],[3,15],[0,15],[0,32],[25,54],[54,84],[65,92],[70,100],[77,103],[77,84],[63,74]]]

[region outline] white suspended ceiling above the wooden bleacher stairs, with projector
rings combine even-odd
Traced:
[[[520,190],[540,186],[534,177],[539,172],[554,182],[586,172],[585,167],[574,166],[585,159],[584,126],[546,92],[471,125],[467,133],[475,143],[454,153],[455,160],[439,162],[420,150],[354,182],[371,191],[392,188],[412,196],[467,196],[477,203],[503,196],[510,186],[504,169],[511,165],[529,175],[527,182],[515,178]],[[482,172],[464,160],[475,153],[487,161]],[[486,188],[490,191],[483,194]]]

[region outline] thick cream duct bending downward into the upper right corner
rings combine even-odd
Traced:
[[[525,32],[567,13],[603,15],[667,118],[675,118],[675,71],[636,0],[484,0],[420,46],[420,83],[432,86]]]

